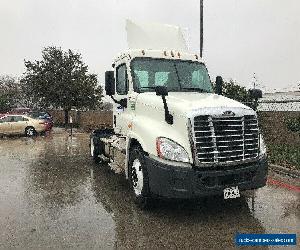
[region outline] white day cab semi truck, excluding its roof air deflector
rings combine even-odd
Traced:
[[[91,134],[91,156],[129,180],[137,204],[194,199],[266,184],[267,155],[256,112],[213,88],[199,56],[129,49],[105,72],[113,128]],[[214,91],[215,89],[215,91]],[[258,98],[261,91],[252,90]]]

